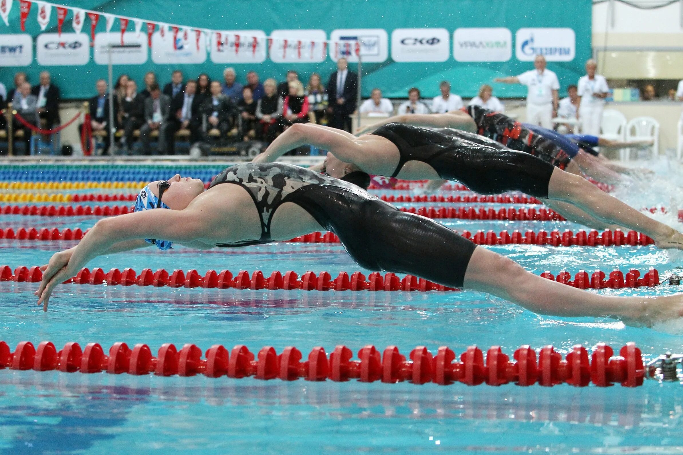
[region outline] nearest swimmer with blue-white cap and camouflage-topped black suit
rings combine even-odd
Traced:
[[[365,186],[358,171],[344,176]],[[535,276],[447,227],[380,201],[349,181],[290,164],[237,164],[208,190],[175,175],[143,188],[132,214],[99,220],[74,248],[52,256],[38,304],[100,254],[155,244],[224,248],[265,244],[328,229],[361,267],[413,274],[448,287],[499,295],[531,311],[613,317],[652,325],[683,314],[683,294],[608,297]],[[158,207],[158,208],[157,208]]]

